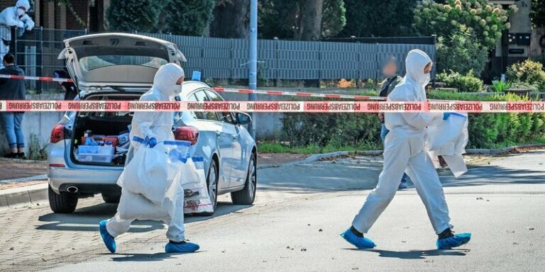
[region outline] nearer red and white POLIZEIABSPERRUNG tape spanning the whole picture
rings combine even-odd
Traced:
[[[0,111],[244,111],[252,113],[545,113],[544,101],[0,101]]]

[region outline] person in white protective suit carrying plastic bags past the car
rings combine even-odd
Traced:
[[[153,79],[153,87],[141,96],[140,101],[172,101],[182,91],[184,81],[184,70],[177,64],[165,64],[158,70]],[[154,147],[158,142],[174,140],[172,134],[173,118],[171,112],[135,112],[131,123],[131,140],[134,136],[148,139],[149,147]],[[148,148],[146,144],[131,142],[127,154],[127,162],[133,157],[138,149]],[[123,174],[122,174],[123,175]],[[123,186],[122,186],[123,187]],[[157,209],[150,201],[143,196],[131,193],[125,189],[121,191],[121,200],[118,212],[109,220],[101,221],[99,230],[101,237],[112,253],[116,251],[115,237],[123,234],[131,227],[134,220],[162,220],[168,225],[168,244],[165,246],[167,253],[194,252],[199,245],[185,242],[183,193],[174,200],[175,210],[173,215],[161,208]],[[138,214],[155,215],[155,218],[141,218]]]

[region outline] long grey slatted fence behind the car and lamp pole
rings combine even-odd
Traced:
[[[174,42],[187,57],[185,69],[204,78],[248,78],[248,40],[143,33]],[[260,79],[378,79],[380,67],[396,57],[404,72],[404,58],[418,48],[435,60],[435,45],[363,42],[305,42],[258,40]]]

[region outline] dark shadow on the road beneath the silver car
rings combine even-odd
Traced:
[[[231,212],[250,208],[251,205],[233,205],[231,203],[218,203],[216,212],[212,216],[186,215],[185,222],[200,222],[209,220]],[[70,215],[48,213],[38,217],[35,229],[60,230],[72,232],[96,232],[101,220],[113,217],[116,213],[116,204],[101,203],[89,207],[79,208]],[[154,229],[166,229],[163,222],[153,220],[136,220],[128,232],[149,232]]]

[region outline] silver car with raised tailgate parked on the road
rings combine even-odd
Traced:
[[[70,38],[65,40],[59,58],[66,60],[80,91],[76,99],[82,101],[136,101],[150,89],[161,65],[185,62],[172,42],[123,33]],[[177,100],[224,100],[200,81],[186,81],[182,90]],[[97,193],[106,203],[119,202],[121,188],[116,181],[123,171],[123,156],[83,159],[77,147],[89,133],[123,135],[128,132],[132,115],[67,112],[55,125],[48,149],[49,202],[53,212],[73,212],[79,198]],[[231,193],[234,204],[251,205],[257,181],[257,149],[244,127],[251,123],[251,117],[246,113],[180,112],[172,113],[172,118],[175,138],[191,141],[194,156],[204,157],[214,210],[217,197],[224,193]]]

